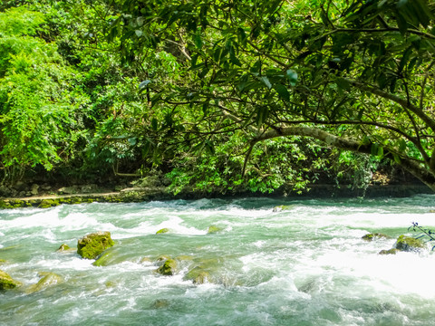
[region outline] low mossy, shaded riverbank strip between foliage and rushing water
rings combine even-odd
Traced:
[[[86,191],[92,189],[92,191]],[[84,190],[84,192],[82,192]],[[75,192],[75,193],[73,193]],[[151,200],[171,199],[198,199],[198,198],[225,198],[225,197],[411,197],[419,194],[433,194],[429,187],[420,184],[408,185],[371,185],[364,189],[349,187],[336,187],[333,185],[312,185],[301,193],[289,189],[279,189],[271,194],[252,193],[247,191],[228,192],[195,191],[187,189],[179,194],[169,191],[168,187],[61,187],[56,193],[43,193],[27,197],[0,197],[0,208],[40,207],[48,208],[62,204],[82,203],[130,203],[146,202]]]

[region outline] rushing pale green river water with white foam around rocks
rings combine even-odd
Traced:
[[[378,254],[411,222],[435,227],[434,206],[422,195],[0,210],[0,269],[24,284],[0,292],[0,325],[435,325],[430,245]],[[95,231],[116,242],[111,264],[56,252]],[[393,238],[363,241],[371,232]],[[156,273],[162,255],[177,273]],[[195,267],[204,283],[189,279]],[[26,291],[41,272],[63,281]]]

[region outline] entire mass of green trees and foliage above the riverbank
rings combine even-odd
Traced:
[[[435,189],[435,5],[6,1],[0,177]],[[393,168],[399,167],[399,168]]]

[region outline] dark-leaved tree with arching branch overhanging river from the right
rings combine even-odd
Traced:
[[[156,108],[150,132],[213,150],[204,135],[243,130],[247,159],[267,139],[317,139],[391,159],[435,190],[435,4],[102,3],[110,15],[101,28],[121,40],[125,62],[150,49],[177,58],[178,78],[140,82]],[[173,109],[161,114],[163,106]],[[195,119],[174,119],[180,109]]]

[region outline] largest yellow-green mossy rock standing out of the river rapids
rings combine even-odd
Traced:
[[[77,243],[77,254],[86,259],[97,258],[104,250],[115,245],[110,232],[96,232],[85,235]]]

